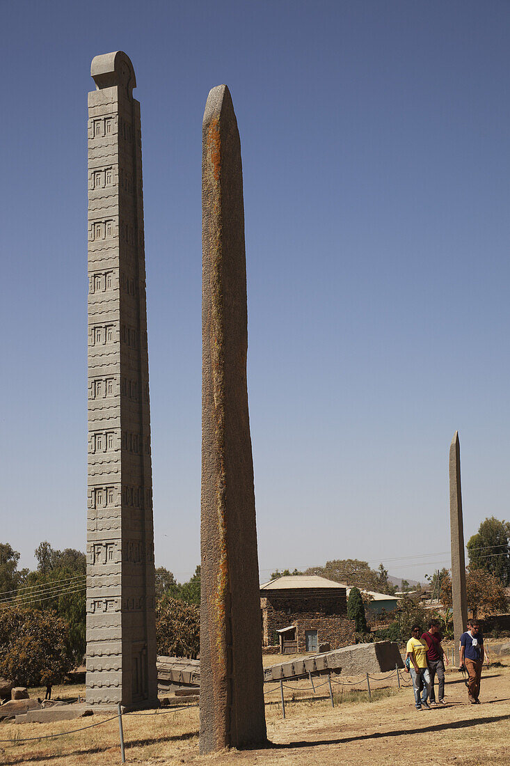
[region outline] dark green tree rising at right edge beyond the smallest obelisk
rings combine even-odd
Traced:
[[[485,519],[466,547],[473,570],[485,569],[503,585],[510,584],[510,522],[500,522],[494,516]]]

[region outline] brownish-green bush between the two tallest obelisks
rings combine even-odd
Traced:
[[[163,596],[156,604],[158,654],[196,660],[200,651],[200,608]]]

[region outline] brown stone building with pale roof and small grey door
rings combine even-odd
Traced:
[[[280,577],[260,586],[263,647],[283,654],[318,652],[354,643],[345,586],[316,575]]]

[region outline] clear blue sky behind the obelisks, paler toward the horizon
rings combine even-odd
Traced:
[[[2,532],[85,547],[87,91],[142,104],[156,563],[199,561],[201,119],[240,128],[261,578],[449,565],[508,519],[508,2],[26,2],[2,11]],[[412,557],[422,563],[412,566]],[[407,558],[404,558],[407,557]]]

